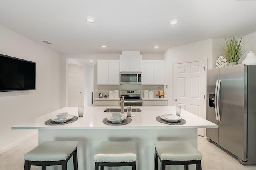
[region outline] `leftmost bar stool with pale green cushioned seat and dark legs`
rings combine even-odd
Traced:
[[[24,155],[24,170],[30,170],[31,165],[46,166],[61,165],[62,170],[67,170],[67,162],[73,156],[74,170],[77,166],[78,141],[44,141]]]

